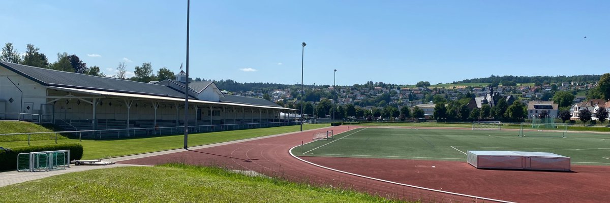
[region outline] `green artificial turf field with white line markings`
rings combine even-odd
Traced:
[[[610,166],[610,134],[562,131],[358,128],[293,149],[299,156],[466,161],[466,151],[552,152],[579,165]]]

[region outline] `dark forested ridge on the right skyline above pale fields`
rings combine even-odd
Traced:
[[[490,76],[475,79],[465,79],[452,84],[461,83],[484,83],[484,82],[515,82],[515,83],[557,83],[557,82],[597,82],[601,75],[581,75],[581,76]]]

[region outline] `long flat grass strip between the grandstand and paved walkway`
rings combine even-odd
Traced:
[[[303,130],[329,127],[330,124],[305,124]],[[246,138],[262,137],[267,135],[296,132],[300,126],[268,127],[248,130],[231,130],[223,132],[208,132],[188,135],[188,146],[220,143],[224,141],[242,140]],[[57,143],[81,143],[84,148],[82,159],[117,157],[121,155],[140,154],[145,152],[162,151],[182,148],[184,135],[171,135],[163,137],[127,138],[120,140],[58,140]],[[54,140],[31,141],[32,145],[54,144]],[[15,148],[27,146],[27,141],[0,141],[0,146]]]

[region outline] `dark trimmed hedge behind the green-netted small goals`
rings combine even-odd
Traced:
[[[0,171],[16,170],[18,154],[66,149],[70,149],[70,160],[80,160],[82,158],[83,150],[79,143],[49,144],[0,150]]]

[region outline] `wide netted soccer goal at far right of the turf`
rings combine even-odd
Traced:
[[[568,125],[561,123],[521,123],[519,137],[568,137]]]

